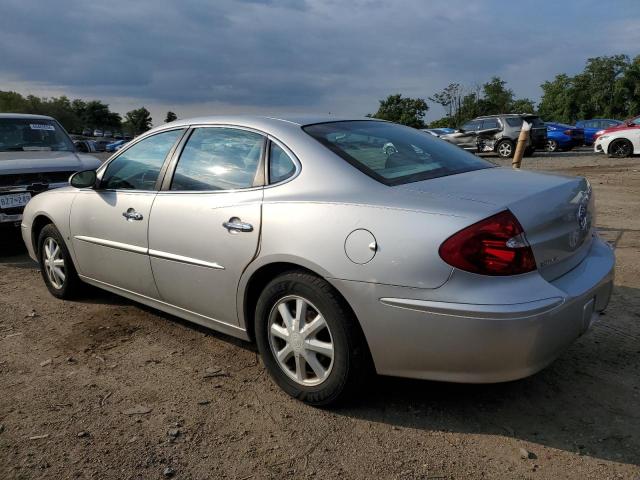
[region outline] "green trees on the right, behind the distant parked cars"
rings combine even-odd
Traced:
[[[625,119],[640,114],[640,55],[633,60],[626,55],[589,58],[577,75],[559,74],[540,87],[536,106],[529,98],[516,98],[500,77],[473,87],[451,83],[428,97],[445,111],[428,125],[427,101],[401,94],[380,100],[378,111],[369,116],[414,128],[459,127],[475,117],[500,113],[537,113],[545,121],[571,124],[589,118]]]

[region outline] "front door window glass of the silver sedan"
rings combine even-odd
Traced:
[[[184,129],[170,130],[145,138],[113,159],[100,188],[109,190],[155,190],[160,169],[171,147]]]

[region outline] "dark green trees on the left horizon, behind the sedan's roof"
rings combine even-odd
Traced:
[[[136,136],[152,126],[151,113],[145,107],[133,109],[125,113],[123,118],[119,113],[112,112],[109,105],[100,100],[70,100],[66,96],[25,97],[17,92],[0,91],[0,112],[48,115],[58,120],[65,130],[74,134],[80,134],[83,129],[89,128]],[[165,122],[177,118],[175,113],[167,112]]]

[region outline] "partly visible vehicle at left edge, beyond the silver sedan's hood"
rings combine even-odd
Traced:
[[[79,155],[67,132],[53,118],[17,113],[0,114],[0,228],[20,226],[31,198],[68,185],[79,171],[100,161]]]

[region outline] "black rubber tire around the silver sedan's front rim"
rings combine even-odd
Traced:
[[[56,278],[55,274],[49,273],[53,265],[47,261],[47,257],[49,256],[47,249],[52,245],[49,243],[50,241],[55,242],[59,247],[59,257],[64,262],[62,266],[64,279],[57,285],[54,282],[54,278]],[[64,239],[58,229],[51,223],[40,231],[38,237],[38,262],[40,263],[40,273],[51,295],[61,299],[69,299],[75,298],[81,293],[83,283],[78,277],[67,245],[64,243]],[[60,278],[57,279],[60,280]]]

